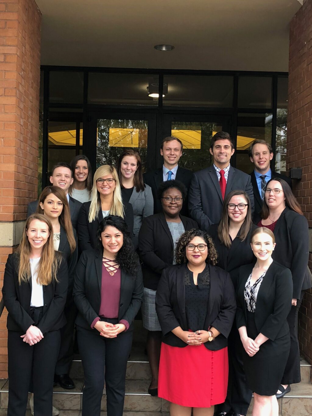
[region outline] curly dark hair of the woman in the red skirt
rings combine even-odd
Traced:
[[[215,245],[213,244],[213,240],[206,233],[206,231],[200,230],[199,228],[192,228],[191,230],[186,231],[180,236],[176,246],[177,264],[187,263],[188,260],[186,258],[185,253],[186,246],[191,240],[193,240],[194,237],[201,237],[205,241],[208,248],[208,256],[206,258],[206,263],[211,263],[215,266],[217,264],[218,253],[215,249]]]

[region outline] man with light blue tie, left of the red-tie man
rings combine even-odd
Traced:
[[[165,181],[176,179],[186,186],[190,187],[192,172],[188,169],[178,166],[179,159],[182,156],[183,144],[181,140],[174,136],[165,137],[161,142],[160,154],[163,156],[163,166],[151,172],[144,173],[144,183],[152,188],[154,198],[154,214],[163,212],[160,199],[157,198],[158,186]],[[188,217],[188,197],[183,201],[181,215]]]

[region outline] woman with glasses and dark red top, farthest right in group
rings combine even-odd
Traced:
[[[269,228],[273,232],[276,248],[272,258],[292,272],[292,306],[287,317],[290,329],[290,353],[276,395],[279,399],[291,390],[290,384],[301,381],[298,312],[304,291],[311,287],[308,270],[308,223],[290,186],[283,179],[275,178],[267,182],[258,226]]]

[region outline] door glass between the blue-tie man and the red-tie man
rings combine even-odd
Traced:
[[[217,123],[199,123],[197,121],[173,121],[171,136],[175,136],[183,143],[183,154],[179,166],[199,171],[211,166],[213,157],[210,154],[212,136],[221,131],[222,126]]]

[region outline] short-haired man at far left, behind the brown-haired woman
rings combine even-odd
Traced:
[[[68,163],[59,162],[52,168],[52,173],[50,176],[50,182],[53,186],[58,186],[61,188],[67,196],[67,201],[69,203],[70,218],[72,220],[72,226],[77,229],[77,221],[80,207],[82,203],[77,201],[77,199],[72,198],[68,194],[69,186],[72,185],[74,181],[72,169]],[[38,201],[32,201],[28,204],[27,207],[27,218],[36,212]]]

